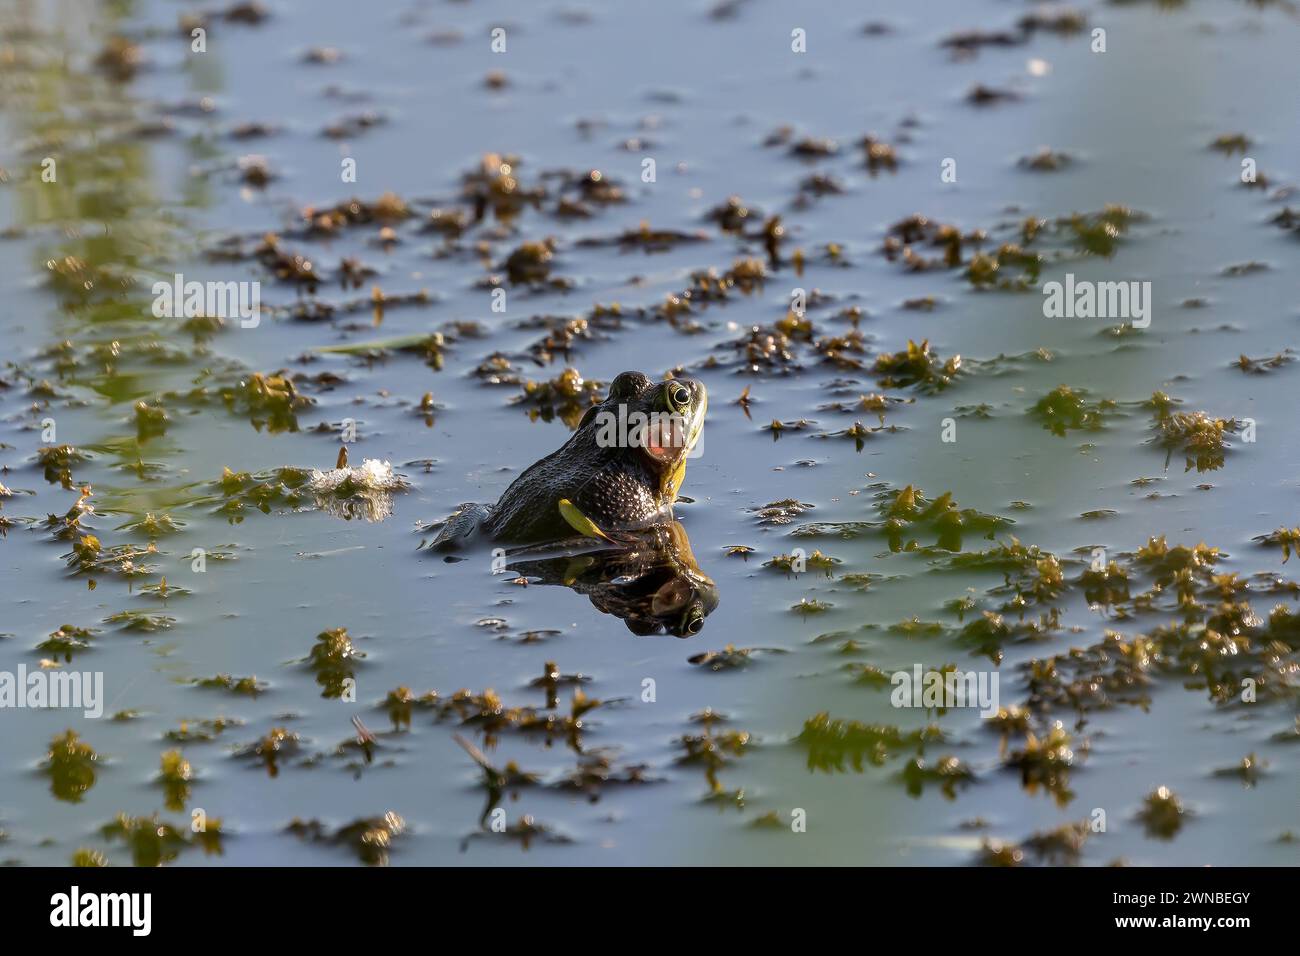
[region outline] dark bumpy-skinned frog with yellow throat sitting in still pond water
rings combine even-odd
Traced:
[[[525,468],[495,505],[460,505],[432,548],[456,550],[476,538],[537,544],[575,532],[616,541],[664,524],[707,410],[703,382],[623,372],[568,441]]]

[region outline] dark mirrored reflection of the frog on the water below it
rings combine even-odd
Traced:
[[[538,584],[586,594],[597,610],[621,618],[634,635],[693,637],[718,606],[718,585],[696,563],[680,522],[624,532],[586,550],[538,555],[514,551],[506,567]],[[538,555],[538,557],[533,557]]]

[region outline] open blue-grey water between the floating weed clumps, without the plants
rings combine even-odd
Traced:
[[[1295,747],[1287,741],[1296,719],[1294,637],[1268,674],[1280,675],[1283,685],[1274,691],[1270,683],[1254,704],[1216,704],[1195,675],[1171,666],[1153,671],[1145,709],[1089,710],[1082,726],[1070,709],[1043,713],[1035,730],[1041,735],[1062,721],[1075,752],[1069,787],[1058,788],[1072,796],[1053,799],[1043,788],[1031,791],[1005,765],[998,734],[974,710],[897,709],[888,685],[857,684],[844,665],[871,665],[887,675],[915,663],[996,671],[1002,706],[1023,704],[1019,665],[1097,644],[1105,628],[1131,639],[1176,622],[1173,588],[1156,598],[1158,613],[1130,619],[1089,609],[1075,585],[1039,606],[1031,602],[1024,620],[1058,607],[1061,627],[1037,640],[1006,643],[994,666],[958,632],[979,618],[979,609],[1006,602],[1008,593],[991,593],[1004,583],[1000,572],[944,570],[946,551],[892,553],[880,535],[793,535],[814,520],[875,520],[875,493],[914,485],[931,498],[952,492],[962,509],[1014,520],[997,540],[1014,535],[1056,554],[1067,562],[1067,581],[1088,567],[1096,548],[1108,561],[1132,564],[1126,554],[1165,535],[1170,545],[1205,541],[1222,549],[1217,570],[1251,580],[1251,591],[1236,597],[1261,617],[1277,602],[1294,605],[1294,596],[1266,593],[1265,579],[1252,578],[1292,579],[1282,550],[1252,538],[1296,523],[1300,453],[1290,408],[1297,371],[1283,365],[1247,375],[1230,367],[1243,354],[1280,352],[1295,338],[1295,238],[1269,224],[1295,203],[1286,183],[1296,170],[1287,164],[1300,144],[1290,122],[1300,69],[1292,55],[1297,21],[1284,7],[1093,4],[1079,8],[1088,18],[1083,33],[1040,31],[1024,44],[984,47],[968,59],[953,59],[940,42],[965,29],[1009,29],[1031,8],[944,1],[922,13],[913,4],[881,3],[864,13],[827,3],[794,13],[751,3],[718,20],[694,3],[415,4],[364,16],[347,4],[276,4],[256,26],[211,22],[202,55],[190,52],[176,27],[178,8],[166,4],[6,3],[0,9],[0,168],[8,178],[0,186],[0,219],[13,229],[0,255],[8,306],[8,364],[0,378],[9,385],[0,389],[0,464],[6,468],[0,483],[21,492],[0,501],[0,515],[13,522],[0,546],[0,632],[6,635],[0,670],[52,659],[36,645],[61,624],[96,627],[91,649],[64,667],[103,671],[105,713],[135,714],[91,721],[68,710],[3,711],[5,858],[64,864],[87,848],[129,862],[125,845],[100,832],[116,814],[157,812],[187,835],[199,808],[208,819],[221,819],[222,853],[186,848],[177,865],[341,864],[380,856],[394,865],[966,864],[979,858],[985,839],[1020,843],[1034,832],[1095,821],[1100,809],[1106,829],[1089,834],[1078,857],[1083,864],[1295,862],[1296,843],[1283,839],[1300,822]],[[889,31],[864,34],[867,22]],[[498,25],[507,30],[503,55],[489,46]],[[1089,48],[1093,26],[1106,30],[1105,53]],[[802,55],[790,51],[796,27],[807,35]],[[459,40],[434,43],[434,34]],[[129,81],[94,65],[113,35],[130,38],[144,56]],[[304,62],[317,47],[337,47],[342,57]],[[504,73],[503,90],[485,86],[493,70]],[[975,83],[1017,91],[1020,99],[972,107],[963,96]],[[384,122],[343,139],[321,134],[341,117],[367,112]],[[169,131],[142,135],[138,124],[160,120]],[[252,121],[278,129],[259,139],[231,137]],[[832,138],[838,151],[806,161],[790,155],[789,143],[764,146],[786,125],[790,142]],[[1248,155],[1271,179],[1268,189],[1240,185],[1240,153],[1206,148],[1214,137],[1238,131],[1253,140]],[[868,133],[896,147],[896,172],[871,176],[864,168],[854,143]],[[1018,165],[1043,144],[1075,161],[1056,173]],[[489,219],[454,242],[420,232],[430,208],[471,211],[459,195],[460,177],[490,152],[517,155],[525,187],[551,189],[545,212],[526,208],[510,224]],[[265,189],[240,181],[238,161],[248,155],[264,156],[274,173]],[[57,163],[53,183],[40,179],[46,156]],[[645,157],[656,164],[653,183],[641,178]],[[344,159],[356,161],[355,183],[341,181]],[[956,182],[940,178],[945,159],[956,160]],[[589,203],[589,219],[554,215],[559,178],[546,174],[590,169],[621,186],[628,202]],[[815,173],[833,177],[844,193],[797,204],[800,183]],[[380,241],[381,224],[347,228],[326,241],[292,234],[304,206],[328,208],[354,195],[373,202],[385,193],[416,212],[391,224],[396,242]],[[689,319],[701,326],[698,334],[638,315],[686,289],[697,269],[723,272],[737,259],[764,258],[760,241],[737,239],[706,220],[733,194],[764,213],[753,217],[749,232],[766,216],[781,215],[785,264],[770,269],[751,294],[733,291],[725,303],[697,306]],[[880,254],[890,224],[913,213],[963,232],[989,229],[985,250],[992,251],[1028,216],[1091,213],[1108,203],[1147,219],[1121,237],[1112,258],[1048,261],[1043,280],[1072,272],[1080,280],[1149,281],[1150,328],[1118,339],[1102,333],[1115,321],[1045,319],[1039,291],[974,290],[961,269],[911,273]],[[636,230],[642,221],[705,230],[708,241],[654,254],[578,245]],[[325,271],[322,300],[364,300],[380,286],[389,297],[428,290],[432,302],[385,308],[378,326],[365,304],[325,321],[272,313],[250,329],[228,321],[200,342],[176,320],[152,317],[150,286],[174,273],[260,278],[266,306],[292,304],[300,293],[257,263],[209,255],[228,237],[251,250],[266,232],[280,232],[283,248],[304,252]],[[520,243],[547,237],[556,241],[551,274],[572,286],[507,284],[507,310],[494,312],[481,280],[500,273]],[[826,255],[827,243],[837,243],[837,259]],[[807,259],[802,276],[789,264],[796,248]],[[47,260],[69,255],[110,271],[92,294],[47,284]],[[348,256],[377,274],[343,291],[337,272]],[[1270,268],[1223,274],[1249,261]],[[114,289],[114,274],[135,284]],[[729,343],[751,325],[781,320],[796,286],[828,297],[809,312],[819,337],[852,328],[836,317],[841,310],[863,310],[868,351],[855,356],[863,369],[822,364],[803,342],[794,345],[800,371],[746,375],[733,363]],[[926,295],[937,299],[933,311],[902,304]],[[1202,302],[1188,307],[1188,299]],[[532,362],[528,350],[545,333],[520,323],[588,316],[595,303],[620,303],[621,328],[580,341],[569,356],[545,367]],[[454,334],[455,323],[471,321],[482,337]],[[312,352],[434,330],[452,339],[438,371],[407,352],[376,362]],[[871,363],[909,339],[928,339],[944,359],[962,355],[966,373],[937,394],[881,388]],[[52,349],[65,341],[72,343],[65,359],[74,360],[61,363]],[[120,343],[116,359],[94,352],[113,341]],[[1040,349],[1050,362],[1034,356]],[[428,523],[458,502],[495,499],[519,470],[568,434],[562,420],[530,420],[525,407],[512,405],[517,386],[489,386],[473,375],[498,351],[524,378],[551,378],[572,364],[603,381],[625,368],[653,377],[681,368],[707,385],[702,454],[688,467],[682,494],[690,501],[677,509],[719,596],[699,635],[634,636],[576,591],[520,587],[512,574],[493,575],[486,550],[448,563],[419,548],[432,538]],[[711,355],[718,367],[707,365]],[[1022,358],[985,364],[998,355]],[[251,419],[269,416],[244,414],[239,402],[230,408],[216,395],[182,398],[196,384],[217,392],[252,372],[277,369],[339,377],[299,380],[298,390],[315,403],[298,411],[296,431],[255,427]],[[835,388],[838,378],[854,382]],[[53,395],[30,392],[42,380]],[[1027,411],[1062,384],[1119,405],[1100,431],[1053,434]],[[746,385],[751,418],[734,403]],[[1256,441],[1232,440],[1221,470],[1184,472],[1176,451],[1166,466],[1165,451],[1148,444],[1152,414],[1138,406],[1156,390],[1183,399],[1183,411],[1252,419]],[[823,407],[874,392],[911,399],[885,414],[897,431],[874,433],[861,451],[850,440],[818,437],[855,420],[879,425],[871,411]],[[425,393],[437,405],[432,420],[417,410]],[[170,419],[164,434],[140,440],[133,410],[139,399],[161,402]],[[978,406],[987,406],[984,416],[968,414]],[[53,419],[56,438],[42,437],[44,419]],[[354,464],[389,460],[410,480],[410,489],[393,494],[385,520],[342,520],[309,497],[298,510],[247,509],[238,522],[218,510],[224,499],[213,483],[226,467],[254,473],[330,468],[344,419],[356,423]],[[760,429],[772,419],[816,424],[774,441]],[[953,420],[953,442],[942,441],[945,419]],[[35,464],[38,449],[51,444],[92,455],[73,464],[70,488],[47,481]],[[1132,484],[1141,477],[1156,481]],[[144,558],[153,566],[150,574],[68,567],[61,555],[70,545],[51,540],[43,520],[64,515],[84,484],[94,488],[95,507],[84,520],[104,546],[144,548],[147,531],[120,525],[146,515],[169,515],[183,525],[156,537],[160,553]],[[786,498],[815,507],[784,525],[758,520],[755,509]],[[1114,514],[1080,518],[1102,510]],[[911,537],[936,544],[935,535]],[[748,559],[728,554],[734,545],[755,551]],[[961,542],[967,553],[992,545],[978,533]],[[800,546],[842,563],[829,578],[762,567]],[[192,570],[196,548],[209,555],[202,574]],[[217,559],[222,555],[229,559]],[[881,578],[866,591],[844,579],[867,574]],[[142,592],[164,575],[165,598]],[[1134,593],[1149,584],[1150,576],[1134,566]],[[1210,610],[1192,614],[1195,622],[1213,606],[1208,580],[1199,587]],[[978,609],[958,620],[945,604],[963,596]],[[801,600],[831,607],[792,610]],[[174,623],[152,632],[103,623],[124,610]],[[913,618],[942,627],[930,636],[892,627]],[[1008,613],[1006,620],[1019,615]],[[316,636],[330,628],[347,628],[365,654],[352,669],[356,702],[322,697],[304,662]],[[534,631],[541,640],[524,640]],[[845,649],[850,639],[855,645]],[[714,672],[688,661],[728,644],[755,648],[748,667]],[[458,688],[494,688],[506,706],[566,717],[571,685],[559,688],[554,711],[546,711],[545,689],[529,685],[550,661],[563,674],[590,678],[582,692],[606,701],[584,714],[576,741],[559,734],[547,744],[512,730],[485,740],[481,727],[459,726],[451,717],[436,722],[419,706],[410,730],[393,732],[381,706],[398,687],[416,696],[437,689],[442,698]],[[256,675],[266,689],[250,697],[192,684],[218,674]],[[653,702],[645,700],[647,680]],[[706,708],[727,722],[693,722]],[[898,748],[861,773],[852,763],[842,773],[812,771],[807,749],[794,740],[823,711],[902,734],[933,723],[945,740],[927,744],[924,758],[953,754],[974,783],[956,788],[953,799],[935,783],[911,796],[901,774],[915,747]],[[377,736],[370,762],[355,745],[339,749],[355,740],[354,715]],[[205,743],[164,737],[185,721],[194,727],[217,717],[242,723]],[[78,801],[56,799],[43,765],[49,741],[68,727],[99,754],[95,783]],[[276,727],[299,734],[302,744],[272,775],[239,750]],[[728,731],[749,735],[741,754],[728,754],[718,770],[716,787],[702,763],[679,762],[682,735],[706,731],[719,745]],[[491,832],[484,774],[455,735],[482,748],[497,767],[516,761],[537,775],[534,786],[507,788],[499,806],[508,825],[528,814],[558,839],[543,834],[524,845]],[[614,780],[597,787],[594,799],[560,786],[578,766],[575,744],[614,762]],[[1023,748],[1024,735],[1011,734],[1008,745]],[[172,749],[183,752],[194,780],[169,809],[156,777],[161,754]],[[1247,754],[1266,763],[1254,786],[1216,775]],[[627,767],[642,765],[637,774],[647,782],[618,782]],[[1173,839],[1153,835],[1138,819],[1143,799],[1161,786],[1188,810]],[[389,812],[404,827],[386,855],[359,857],[346,836],[332,843],[286,830],[296,818],[318,821],[332,834]],[[766,814],[775,814],[779,826],[753,826]],[[806,831],[792,832],[800,818]]]

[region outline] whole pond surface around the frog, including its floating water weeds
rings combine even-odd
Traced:
[[[1295,864],[1297,34],[0,1],[0,672],[104,710],[0,710],[0,858]],[[426,548],[625,369],[708,389],[679,528]],[[1001,713],[894,706],[949,665]]]

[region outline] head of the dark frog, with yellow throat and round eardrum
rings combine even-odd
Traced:
[[[686,458],[699,441],[708,410],[703,382],[670,378],[655,382],[642,372],[623,372],[610,382],[610,394],[589,412],[581,427],[595,432],[602,447],[627,447],[641,454],[659,477],[659,493],[677,497]]]

